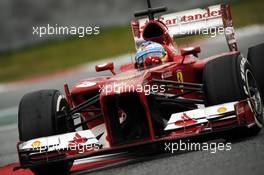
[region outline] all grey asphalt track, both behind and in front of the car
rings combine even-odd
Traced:
[[[241,52],[246,55],[247,48],[264,42],[264,28],[251,27],[239,30],[236,34]],[[222,37],[212,38],[202,43],[201,57],[210,56],[227,50]],[[117,59],[118,64],[129,61],[129,56]],[[104,73],[102,73],[104,74]],[[21,96],[33,90],[43,88],[61,89],[63,83],[70,86],[78,79],[98,75],[91,66],[85,66],[82,71],[69,73],[66,77],[57,77],[49,81],[19,85],[19,87],[3,86],[0,92],[0,166],[14,162],[16,157],[16,141],[18,140],[16,118],[17,104]],[[13,123],[13,124],[11,124]],[[264,132],[255,137],[248,137],[232,142],[230,151],[196,151],[180,155],[151,158],[126,166],[103,169],[92,174],[263,174],[264,172]],[[81,174],[87,174],[84,171]]]

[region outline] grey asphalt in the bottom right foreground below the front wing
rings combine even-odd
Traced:
[[[262,175],[264,171],[264,132],[232,142],[230,151],[196,151],[171,154],[138,163],[93,171],[92,174],[166,175]],[[89,172],[87,170],[87,172]],[[81,174],[87,174],[83,171]]]

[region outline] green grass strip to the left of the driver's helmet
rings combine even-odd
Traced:
[[[128,27],[102,29],[97,36],[50,41],[0,55],[0,81],[52,73],[101,58],[133,51]]]

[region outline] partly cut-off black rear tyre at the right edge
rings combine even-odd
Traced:
[[[259,90],[263,97],[264,95],[264,78],[263,78],[263,75],[264,75],[264,69],[263,69],[264,43],[248,49],[248,61],[251,65],[254,76],[259,85]],[[263,99],[262,99],[262,102],[264,102]]]

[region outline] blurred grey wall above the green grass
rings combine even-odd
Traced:
[[[152,0],[153,5],[166,4],[171,11],[205,6],[219,0]],[[32,35],[32,26],[127,26],[133,12],[146,7],[145,0],[1,0],[0,50],[17,49],[43,42]],[[48,38],[52,39],[52,38]]]

